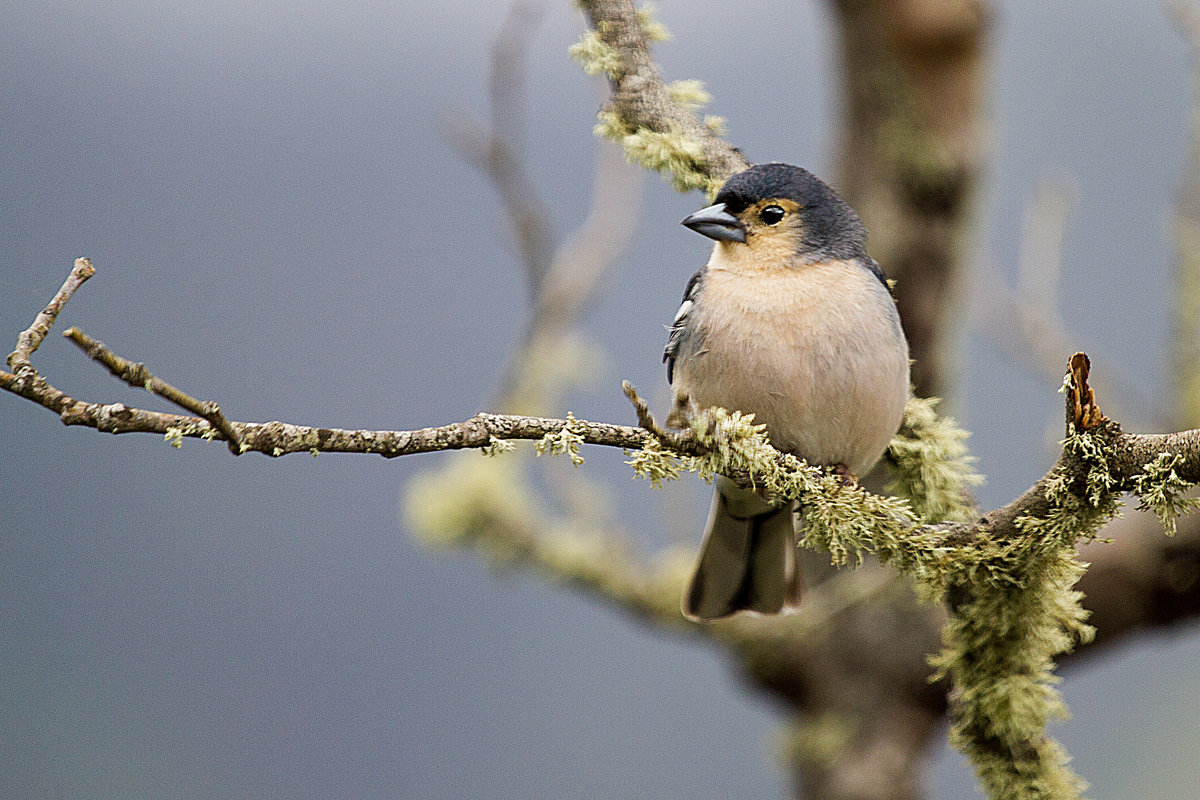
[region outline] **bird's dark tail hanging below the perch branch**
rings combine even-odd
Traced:
[[[768,504],[757,492],[718,477],[696,572],[683,596],[689,619],[738,610],[778,614],[800,601],[794,503]]]

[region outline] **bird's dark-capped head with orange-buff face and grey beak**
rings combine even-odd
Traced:
[[[791,164],[758,164],[733,175],[713,205],[683,224],[716,240],[722,260],[746,266],[866,255],[866,230],[854,210],[820,178]]]

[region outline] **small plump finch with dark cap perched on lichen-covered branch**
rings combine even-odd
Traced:
[[[682,224],[714,240],[688,282],[666,350],[667,423],[712,407],[752,414],[770,444],[846,481],[899,429],[908,344],[854,210],[802,167],[728,178]],[[800,600],[794,501],[718,476],[683,614],[793,612]]]

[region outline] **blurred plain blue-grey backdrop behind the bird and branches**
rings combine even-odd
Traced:
[[[408,428],[485,408],[528,309],[497,198],[438,120],[482,113],[505,5],[431,5],[6,4],[4,351],[86,254],[98,273],[59,330],[79,325],[234,419]],[[704,80],[731,140],[829,174],[821,4],[659,6],[667,77]],[[1188,48],[1157,4],[997,6],[979,269],[1012,279],[1022,205],[1042,176],[1069,176],[1063,315],[1136,407],[1164,386]],[[601,92],[566,59],[578,12],[547,10],[529,156],[565,233],[588,207]],[[678,225],[701,198],[644,187],[634,246],[588,317],[608,361],[600,389],[571,398],[580,416],[629,421],[622,378],[661,391],[662,324],[707,253]],[[77,397],[163,408],[56,336],[35,362]],[[1051,463],[1057,383],[976,333],[961,375],[954,408],[995,505]],[[438,456],[234,459],[67,429],[7,395],[0,456],[0,795],[785,794],[778,718],[720,654],[415,545],[398,498]],[[660,543],[660,504],[618,461],[583,469]],[[706,492],[677,492],[698,536]],[[1057,732],[1094,796],[1194,790],[1198,658],[1187,626],[1068,673],[1075,717]],[[938,798],[972,784],[953,753],[934,777]]]

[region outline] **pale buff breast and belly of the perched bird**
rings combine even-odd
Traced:
[[[908,397],[908,348],[890,295],[868,270],[710,266],[692,314],[677,403],[752,413],[772,444],[814,464],[862,475],[878,461]]]

